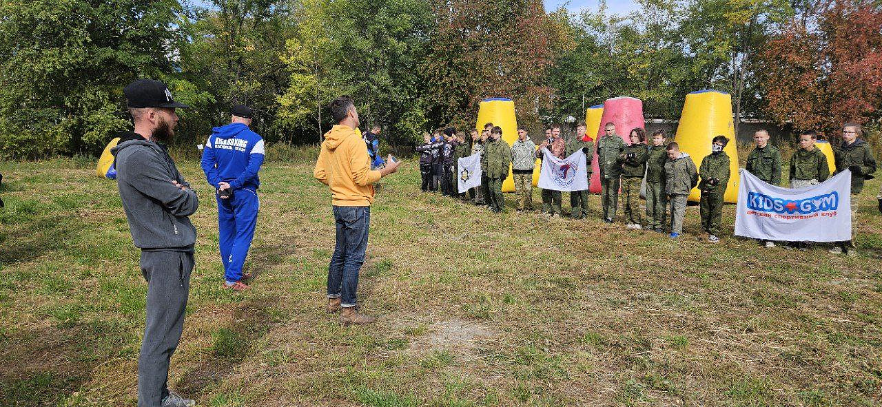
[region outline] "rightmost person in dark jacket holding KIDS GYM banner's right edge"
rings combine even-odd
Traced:
[[[842,125],[842,144],[836,150],[836,172],[840,174],[845,170],[851,171],[851,240],[842,241],[840,246],[830,250],[833,254],[857,255],[855,246],[855,231],[857,223],[857,196],[863,190],[863,181],[872,179],[876,172],[876,158],[870,144],[863,141],[863,128],[857,123],[845,123]],[[880,195],[882,196],[882,191]]]

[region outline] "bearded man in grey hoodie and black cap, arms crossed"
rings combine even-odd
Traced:
[[[141,249],[141,273],[147,281],[138,407],[191,407],[193,400],[168,389],[168,363],[183,332],[196,243],[196,228],[188,217],[199,201],[163,144],[175,134],[175,108],[187,105],[173,100],[165,84],[151,79],[138,79],[123,93],[135,131],[121,135],[110,152],[116,158],[116,186],[131,240]]]

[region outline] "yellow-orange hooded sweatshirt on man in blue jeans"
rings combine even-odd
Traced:
[[[325,133],[312,174],[331,187],[334,206],[370,206],[379,171],[370,170],[368,149],[349,126],[335,124]]]

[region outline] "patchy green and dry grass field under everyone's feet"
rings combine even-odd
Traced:
[[[359,300],[326,314],[333,218],[313,162],[261,172],[243,294],[221,288],[213,190],[169,383],[206,406],[882,403],[882,216],[864,190],[856,258],[549,220],[419,191],[407,160],[372,210]],[[0,405],[133,405],[146,283],[113,181],[93,163],[4,162]],[[786,173],[785,173],[786,174]],[[538,193],[534,194],[538,204]],[[564,210],[568,208],[564,194]]]

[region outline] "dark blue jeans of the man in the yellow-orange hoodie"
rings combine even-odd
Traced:
[[[337,245],[328,265],[328,298],[339,298],[340,307],[355,307],[358,270],[368,248],[370,206],[334,206]]]

